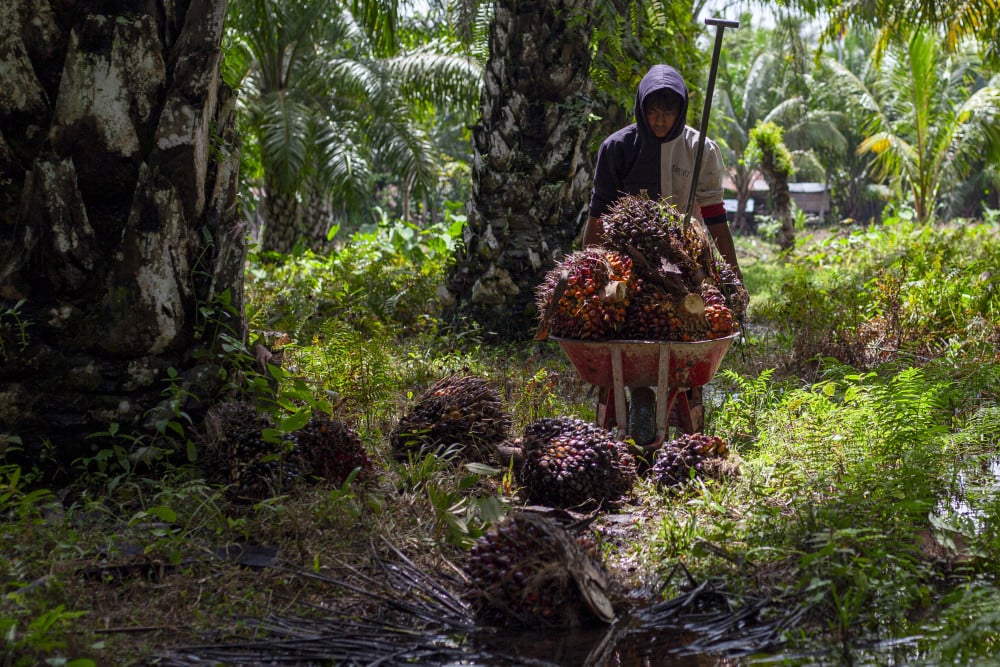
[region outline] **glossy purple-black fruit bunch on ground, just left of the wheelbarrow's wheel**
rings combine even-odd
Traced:
[[[575,417],[529,424],[518,481],[528,501],[570,508],[614,501],[636,480],[635,458],[610,431]]]

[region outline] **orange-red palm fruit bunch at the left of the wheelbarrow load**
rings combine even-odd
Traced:
[[[535,290],[540,329],[565,338],[614,338],[636,288],[627,256],[600,247],[570,253]]]

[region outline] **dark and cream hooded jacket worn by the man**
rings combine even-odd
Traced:
[[[659,90],[680,96],[678,121],[670,133],[658,139],[646,122],[643,102]],[[699,133],[684,122],[688,90],[684,78],[669,65],[653,65],[639,82],[635,95],[635,123],[611,134],[597,152],[590,216],[599,218],[623,194],[651,199],[664,197],[681,213],[687,208],[691,175],[698,150]],[[722,203],[723,162],[718,145],[706,138],[698,175],[693,214],[707,224],[726,222]]]

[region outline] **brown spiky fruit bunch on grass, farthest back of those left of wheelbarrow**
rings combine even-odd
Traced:
[[[435,382],[400,418],[389,436],[397,459],[457,445],[468,460],[492,461],[507,439],[510,414],[484,378],[457,373]]]

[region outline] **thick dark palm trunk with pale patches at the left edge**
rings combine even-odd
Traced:
[[[0,3],[0,435],[68,462],[244,335],[226,0]],[[45,461],[41,461],[44,463]]]

